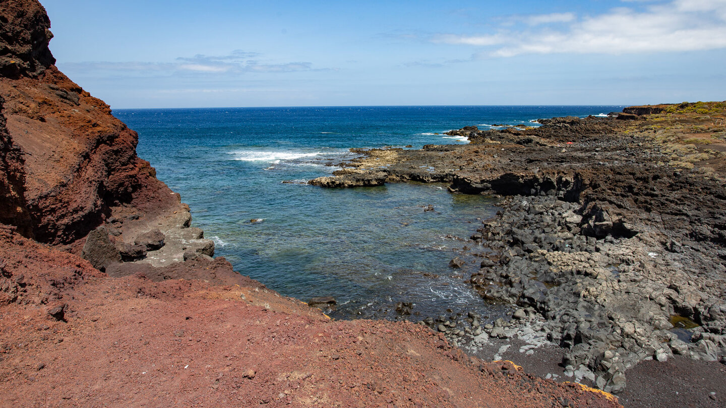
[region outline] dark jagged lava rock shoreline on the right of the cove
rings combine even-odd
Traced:
[[[511,322],[421,323],[472,351],[490,338],[561,346],[566,374],[617,393],[643,360],[726,364],[725,113],[723,102],[698,102],[467,126],[449,134],[471,144],[370,150],[310,182],[444,181],[504,197],[470,238],[492,250],[470,282],[522,309]]]

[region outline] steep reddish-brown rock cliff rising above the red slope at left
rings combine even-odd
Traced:
[[[136,132],[60,73],[37,1],[0,3],[0,222],[65,244],[113,206],[160,211],[179,203],[136,156]]]

